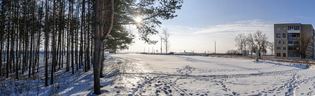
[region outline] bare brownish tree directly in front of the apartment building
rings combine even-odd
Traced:
[[[297,44],[294,44],[295,47],[299,47],[298,50],[295,50],[302,59],[310,56],[309,54],[312,52],[312,38],[311,36],[307,36],[305,32],[300,33],[299,39],[297,39]]]

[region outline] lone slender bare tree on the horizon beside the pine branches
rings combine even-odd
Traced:
[[[163,28],[162,29],[163,32],[162,32],[162,35],[160,35],[160,37],[162,38],[163,42],[164,42],[164,49],[166,50],[166,55],[167,55],[167,50],[169,50],[170,46],[171,46],[171,43],[169,42],[169,36],[171,35],[166,28]]]

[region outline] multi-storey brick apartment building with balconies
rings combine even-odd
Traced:
[[[314,59],[314,32],[310,24],[274,24],[274,56],[301,59],[296,50],[299,50],[300,34],[305,33],[312,38],[311,52],[307,53],[306,59]]]

